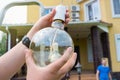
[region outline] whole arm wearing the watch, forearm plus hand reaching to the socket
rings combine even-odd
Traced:
[[[49,26],[52,22],[54,14],[55,10],[39,19],[28,32],[27,37],[31,39],[38,30]],[[22,65],[25,63],[25,49],[27,49],[27,47],[25,47],[22,42],[20,42],[10,51],[6,52],[3,56],[0,57],[1,80],[10,79],[22,67]]]

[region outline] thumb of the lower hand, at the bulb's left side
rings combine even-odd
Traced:
[[[29,49],[25,50],[25,60],[28,68],[35,66],[34,60],[32,58],[32,51]]]

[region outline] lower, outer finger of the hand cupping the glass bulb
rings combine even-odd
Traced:
[[[65,74],[72,69],[76,62],[77,54],[73,53],[72,57],[67,61],[67,63],[59,70],[60,74]]]

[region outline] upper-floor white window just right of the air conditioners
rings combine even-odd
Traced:
[[[85,20],[100,20],[100,6],[98,0],[93,0],[85,4]]]

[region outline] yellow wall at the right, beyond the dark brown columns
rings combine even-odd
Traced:
[[[113,72],[120,72],[120,62],[117,61],[114,34],[120,34],[120,18],[112,17],[111,0],[100,0],[102,21],[112,23],[109,28],[110,53]]]

